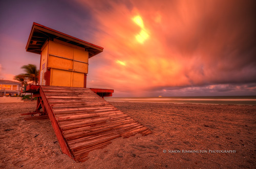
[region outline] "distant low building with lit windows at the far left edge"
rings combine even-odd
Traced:
[[[0,79],[0,95],[14,95],[20,94],[20,88],[22,83],[12,80],[1,80]]]

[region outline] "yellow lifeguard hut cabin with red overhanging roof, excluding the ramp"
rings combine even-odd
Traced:
[[[41,55],[39,85],[86,88],[89,58],[103,47],[34,22],[26,51]]]

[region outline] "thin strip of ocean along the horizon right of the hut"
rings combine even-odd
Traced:
[[[106,101],[120,101],[120,102],[256,105],[256,96],[104,97],[104,99]]]

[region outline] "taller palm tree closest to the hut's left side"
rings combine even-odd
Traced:
[[[39,75],[39,70],[36,68],[35,65],[32,64],[28,64],[28,65],[24,65],[22,67],[22,69],[25,70],[25,76],[28,78],[29,81],[32,81],[32,85],[37,84],[38,82],[38,75]]]

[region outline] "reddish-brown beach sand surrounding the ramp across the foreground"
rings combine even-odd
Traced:
[[[111,104],[150,128],[153,133],[116,138],[104,149],[90,152],[90,159],[86,162],[76,163],[62,154],[49,119],[24,121],[20,117],[20,113],[35,110],[36,101],[0,103],[0,168],[256,166],[256,106]]]

